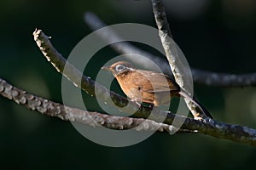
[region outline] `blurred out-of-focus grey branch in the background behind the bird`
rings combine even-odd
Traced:
[[[91,12],[87,12],[84,14],[84,21],[85,23],[90,26],[92,30],[100,29],[104,26],[107,26],[105,23],[100,20],[96,14]],[[108,42],[111,37],[116,37],[115,39],[120,39],[114,32],[109,32],[109,34],[102,35],[102,39]],[[120,54],[139,54],[148,59],[153,60],[154,63],[160,65],[162,71],[166,74],[170,75],[170,66],[166,59],[161,59],[159,56],[155,56],[154,54],[149,54],[146,51],[143,51],[140,48],[133,46],[129,42],[119,42],[114,43],[111,45],[113,50]],[[129,59],[136,61],[137,64],[145,65],[146,60],[141,59],[134,59],[130,57]],[[148,64],[148,63],[147,63]],[[247,86],[256,86],[256,73],[248,73],[248,74],[230,74],[230,73],[218,73],[212,71],[203,71],[200,69],[191,69],[193,75],[193,81],[196,83],[201,83],[207,86],[215,86],[215,87],[223,87],[223,88],[230,88],[230,87],[247,87]]]

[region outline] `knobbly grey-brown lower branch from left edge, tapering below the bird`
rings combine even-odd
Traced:
[[[172,125],[158,123],[143,118],[130,118],[122,116],[110,116],[98,112],[82,111],[76,108],[68,107],[55,103],[48,99],[28,94],[20,88],[15,88],[8,82],[0,78],[0,94],[5,98],[14,100],[19,105],[25,105],[32,111],[38,111],[43,115],[55,116],[63,121],[81,122],[91,127],[108,127],[111,129],[131,129],[137,131],[160,131],[171,133],[176,128]],[[179,129],[180,132],[186,130]]]

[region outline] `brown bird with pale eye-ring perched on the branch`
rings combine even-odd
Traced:
[[[171,77],[163,73],[139,70],[126,61],[119,61],[102,69],[111,71],[124,93],[134,101],[159,106],[170,103],[172,97],[183,96],[196,105],[202,114],[212,118],[205,107],[186,94]]]

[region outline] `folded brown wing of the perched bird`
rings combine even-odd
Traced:
[[[136,74],[139,74],[139,76],[134,78],[133,81],[142,92],[157,93],[179,90],[177,83],[162,73],[137,70]]]

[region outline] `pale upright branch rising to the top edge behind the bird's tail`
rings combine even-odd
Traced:
[[[162,42],[163,48],[166,52],[166,58],[171,65],[172,74],[175,77],[175,81],[183,88],[193,98],[193,87],[190,85],[193,84],[192,76],[189,74],[189,65],[186,65],[186,61],[180,57],[178,48],[175,42],[172,40],[172,32],[170,30],[164,5],[161,0],[152,0],[152,7],[154,11],[154,19],[156,25],[158,26],[160,40]],[[196,105],[191,102],[190,99],[184,99],[186,104],[189,107],[189,110],[195,117],[195,119],[201,119],[201,117],[207,117],[203,112],[199,113],[196,111]]]

